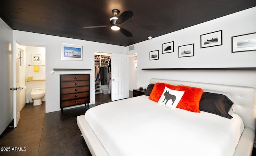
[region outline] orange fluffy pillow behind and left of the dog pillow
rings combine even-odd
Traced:
[[[171,84],[156,83],[148,98],[152,101],[158,102],[158,100],[162,96],[162,93],[164,92],[164,87],[170,88],[171,90],[175,89],[175,86]]]

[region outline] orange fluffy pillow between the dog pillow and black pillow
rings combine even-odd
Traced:
[[[200,113],[199,102],[204,92],[201,88],[176,86],[175,90],[185,91],[176,108]]]

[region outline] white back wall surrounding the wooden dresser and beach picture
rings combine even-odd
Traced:
[[[94,52],[125,54],[125,47],[70,39],[25,31],[13,31],[20,45],[46,47],[46,113],[60,110],[60,74],[90,74],[90,104],[94,100]],[[61,43],[83,46],[83,61],[61,60]],[[53,68],[89,68],[92,70],[55,71]]]

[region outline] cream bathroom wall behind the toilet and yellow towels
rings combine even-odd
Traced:
[[[41,55],[41,63],[32,63],[32,54]],[[33,76],[33,80],[39,81],[26,81],[26,99],[29,99],[32,102],[30,96],[31,90],[36,87],[46,88],[45,83],[45,47],[32,47],[26,46],[26,80],[28,77]],[[28,66],[30,65],[30,66]],[[39,65],[39,72],[34,72],[34,66]],[[44,66],[42,66],[44,65]],[[42,98],[42,101],[45,101],[45,96]]]

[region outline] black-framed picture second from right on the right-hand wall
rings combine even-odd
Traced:
[[[201,48],[222,45],[222,30],[201,35]]]

